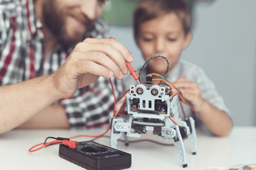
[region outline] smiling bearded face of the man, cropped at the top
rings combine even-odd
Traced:
[[[105,0],[44,0],[43,24],[58,41],[70,45],[82,41],[101,16]]]

